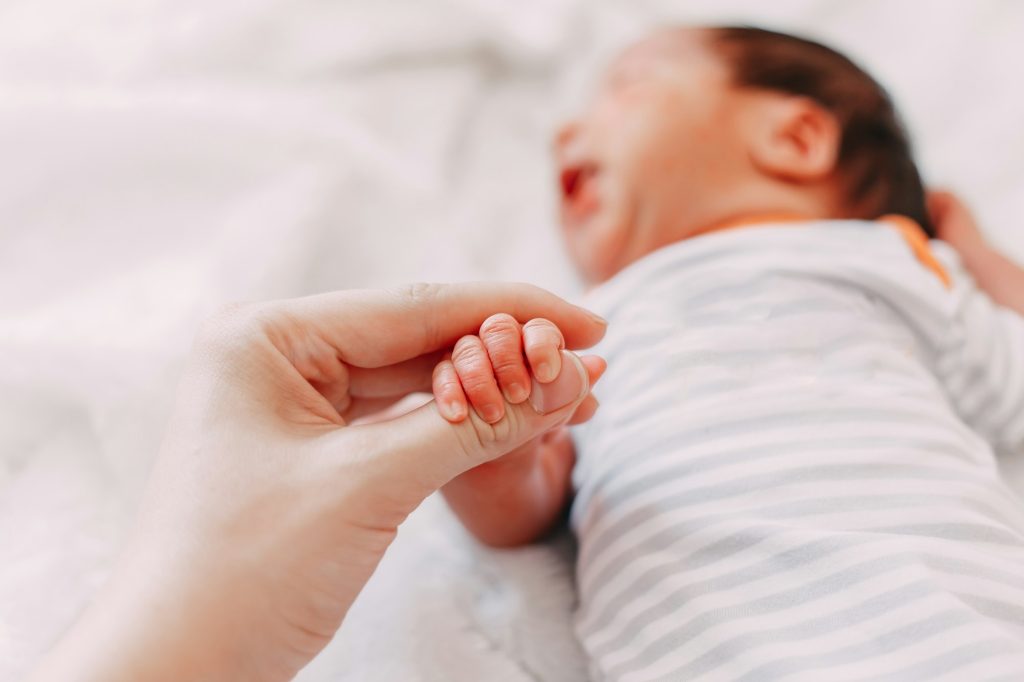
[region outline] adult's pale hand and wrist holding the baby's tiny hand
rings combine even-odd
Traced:
[[[428,495],[567,422],[507,404],[451,424],[427,390],[439,353],[490,314],[546,317],[570,348],[600,318],[526,285],[421,285],[233,308],[200,333],[137,531],[108,587],[36,679],[287,680],[331,639]],[[562,386],[566,381],[554,382]]]

